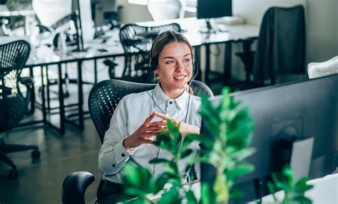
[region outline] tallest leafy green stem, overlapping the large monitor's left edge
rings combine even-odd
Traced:
[[[240,102],[234,102],[229,92],[227,88],[222,90],[222,102],[218,107],[214,107],[207,97],[202,97],[200,109],[205,128],[214,137],[200,136],[200,141],[210,149],[200,161],[212,164],[217,172],[212,187],[216,196],[211,203],[225,203],[241,197],[242,193],[233,185],[238,177],[254,169],[250,163],[244,162],[255,152],[255,149],[248,147],[253,122],[247,108],[240,107]]]

